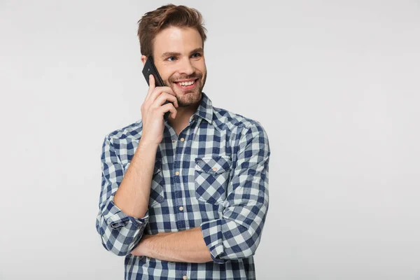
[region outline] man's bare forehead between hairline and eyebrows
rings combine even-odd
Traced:
[[[191,27],[167,27],[160,31],[153,41],[153,55],[164,52],[188,53],[202,48],[202,38],[197,29]]]

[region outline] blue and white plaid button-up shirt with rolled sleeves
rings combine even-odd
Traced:
[[[125,255],[125,279],[255,279],[255,253],[268,210],[269,142],[255,120],[218,109],[204,92],[176,135],[165,121],[144,218],[113,203],[141,138],[141,121],[108,134],[96,228],[106,250]],[[143,234],[201,227],[213,262],[131,255]]]

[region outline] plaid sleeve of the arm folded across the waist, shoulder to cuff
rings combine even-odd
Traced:
[[[244,131],[223,216],[200,225],[211,258],[218,263],[255,254],[268,211],[267,133],[258,122]]]

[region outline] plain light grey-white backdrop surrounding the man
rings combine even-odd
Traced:
[[[123,279],[102,141],[141,118],[137,21],[166,1],[0,0],[0,279]],[[214,106],[269,136],[258,279],[420,279],[419,1],[173,1]]]

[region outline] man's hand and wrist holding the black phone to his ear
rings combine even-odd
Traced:
[[[166,101],[169,101],[169,103],[165,104]],[[172,88],[155,87],[155,78],[153,78],[153,75],[150,75],[148,93],[141,105],[141,119],[143,121],[142,144],[160,144],[165,128],[163,116],[167,111],[170,111],[172,118],[175,118],[178,106],[178,100]]]

